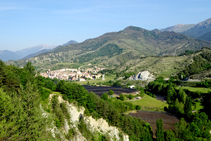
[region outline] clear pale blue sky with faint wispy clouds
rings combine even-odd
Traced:
[[[127,26],[148,30],[211,18],[211,0],[0,0],[0,50],[82,42]]]

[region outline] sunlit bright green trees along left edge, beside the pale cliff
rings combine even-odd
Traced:
[[[43,118],[34,68],[6,66],[0,61],[0,139],[45,140]],[[50,138],[49,138],[50,139]]]

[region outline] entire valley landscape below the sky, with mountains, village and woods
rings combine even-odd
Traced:
[[[0,140],[210,140],[209,30],[128,26],[0,60]]]

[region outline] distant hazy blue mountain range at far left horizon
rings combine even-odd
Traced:
[[[51,49],[53,49],[55,47],[56,47],[55,45],[41,44],[38,46],[33,46],[33,47],[26,48],[26,49],[22,49],[22,50],[16,51],[16,52],[2,50],[1,51],[2,53],[0,53],[0,59],[3,61],[8,61],[8,60],[19,60],[19,59],[24,59],[24,58],[30,58],[35,55],[39,55],[40,53],[44,53],[44,51],[41,51],[41,50],[50,51]],[[35,53],[35,55],[30,55],[33,53]],[[26,56],[28,56],[28,57],[26,57]]]

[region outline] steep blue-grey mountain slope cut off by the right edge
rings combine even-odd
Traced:
[[[182,34],[197,38],[203,34],[211,31],[211,18],[196,24],[194,27],[190,28],[187,31],[182,32]]]

